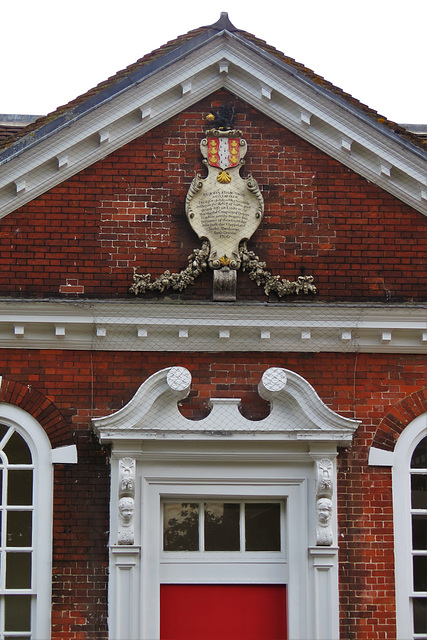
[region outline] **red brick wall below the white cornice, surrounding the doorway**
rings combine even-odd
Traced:
[[[78,449],[77,465],[55,466],[54,640],[107,637],[109,452],[97,444],[90,419],[122,407],[171,363],[192,373],[192,392],[182,403],[190,418],[206,415],[208,399],[219,394],[241,397],[248,418],[266,415],[257,385],[268,367],[281,366],[306,378],[331,409],[362,421],[338,462],[341,633],[346,640],[395,637],[391,473],[368,467],[368,450],[379,430],[393,432],[390,415],[405,425],[426,410],[424,356],[12,349],[2,356],[2,400],[37,417],[53,446]],[[420,403],[402,415],[415,396]]]

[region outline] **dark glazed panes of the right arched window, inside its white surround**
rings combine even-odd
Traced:
[[[414,450],[410,473],[414,638],[427,638],[427,436]]]

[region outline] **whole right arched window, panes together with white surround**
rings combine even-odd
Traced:
[[[398,638],[427,640],[427,414],[397,441],[393,508]]]

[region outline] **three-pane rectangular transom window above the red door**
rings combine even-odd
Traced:
[[[163,503],[164,551],[281,551],[280,502]]]

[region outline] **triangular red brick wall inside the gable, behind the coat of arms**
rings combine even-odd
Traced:
[[[184,201],[220,92],[0,221],[0,295],[132,297],[133,269],[179,271],[200,246]],[[318,300],[426,298],[427,221],[235,99],[265,219],[251,240],[274,274],[312,274]],[[28,266],[31,265],[31,269]],[[158,296],[160,294],[153,294]],[[182,299],[210,299],[202,275]],[[239,273],[239,299],[265,296]],[[274,296],[272,295],[272,299]]]

